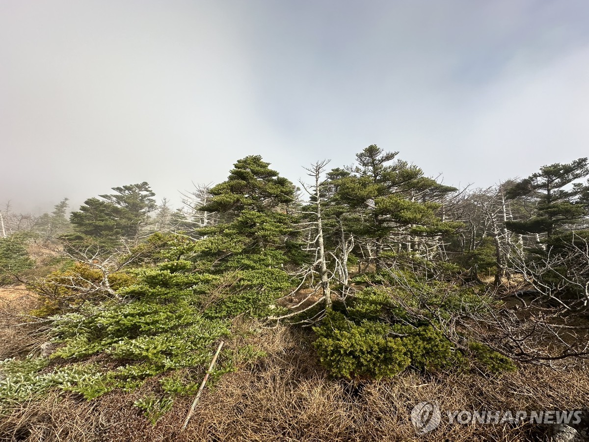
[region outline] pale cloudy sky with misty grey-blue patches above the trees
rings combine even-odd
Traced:
[[[293,182],[369,144],[487,187],[589,155],[586,0],[0,0],[0,204]],[[74,207],[76,208],[76,207]]]

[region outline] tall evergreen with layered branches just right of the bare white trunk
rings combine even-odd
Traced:
[[[356,154],[358,165],[350,174],[337,179],[337,199],[362,220],[355,233],[367,240],[366,250],[377,270],[385,248],[415,251],[419,238],[445,235],[458,227],[436,214],[436,200],[456,189],[424,177],[419,167],[406,161],[392,162],[397,154],[372,144]]]

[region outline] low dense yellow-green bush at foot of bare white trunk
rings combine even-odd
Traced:
[[[493,308],[494,300],[476,286],[424,281],[407,272],[380,272],[379,283],[374,276],[345,305],[335,303],[314,328],[319,359],[334,377],[380,378],[406,368],[461,367],[469,356],[493,371],[506,363],[498,354],[464,354],[446,337],[442,324],[448,320]]]

